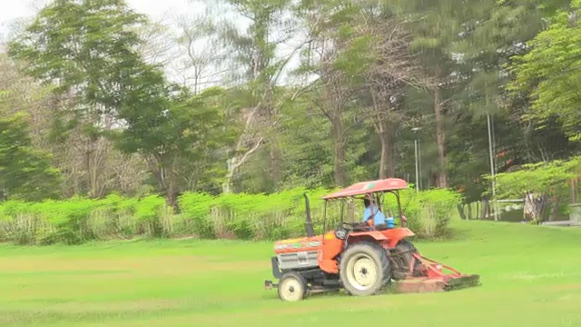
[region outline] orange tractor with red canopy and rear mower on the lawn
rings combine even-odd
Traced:
[[[478,275],[468,275],[418,253],[406,240],[414,233],[405,227],[399,190],[407,189],[406,181],[389,178],[355,183],[323,197],[323,222],[327,206],[332,201],[367,198],[372,212],[381,212],[385,193],[395,195],[401,227],[392,219],[388,223],[347,223],[343,221],[332,231],[314,235],[310,218],[309,198],[306,201],[307,237],[282,240],[274,245],[271,258],[272,274],[278,283],[265,281],[265,289],[278,288],[283,301],[300,301],[312,292],[339,291],[368,296],[382,292],[393,281],[399,292],[445,292],[477,286]],[[376,204],[377,203],[377,204]],[[342,209],[342,207],[341,207]],[[372,222],[372,220],[370,220]],[[323,231],[326,230],[323,223]],[[448,271],[448,272],[445,272]]]

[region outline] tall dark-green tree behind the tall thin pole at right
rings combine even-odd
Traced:
[[[490,172],[487,116],[492,123],[494,169],[502,173],[528,160],[530,135],[518,112],[526,106],[509,101],[503,85],[510,57],[526,51],[522,46],[542,28],[535,5],[498,4],[495,0],[471,5],[461,19],[461,34],[451,45],[458,55],[456,72],[462,76],[454,94],[457,110],[448,127],[448,166],[451,186],[464,190],[468,202],[477,201],[488,185],[481,178]],[[483,205],[483,208],[486,205]]]

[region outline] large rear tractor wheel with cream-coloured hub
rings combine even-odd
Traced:
[[[340,281],[351,295],[379,293],[391,280],[391,267],[385,249],[376,243],[356,243],[342,255]]]

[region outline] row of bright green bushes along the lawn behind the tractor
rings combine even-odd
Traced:
[[[43,203],[6,202],[0,205],[0,241],[17,244],[79,244],[88,241],[197,237],[202,239],[276,240],[305,232],[305,201],[316,233],[340,222],[359,221],[362,203],[329,203],[323,226],[324,202],[331,190],[293,189],[274,194],[185,193],[179,198],[180,213],[173,213],[157,195],[128,199],[109,195],[101,200],[72,198]],[[386,193],[383,212],[397,214],[395,196]],[[408,226],[419,237],[448,233],[450,216],[460,198],[448,190],[401,193]],[[399,220],[397,220],[399,221]]]

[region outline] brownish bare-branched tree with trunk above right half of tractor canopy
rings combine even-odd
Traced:
[[[369,52],[371,59],[364,72],[364,96],[370,98],[364,114],[369,115],[381,144],[379,178],[387,178],[396,173],[395,131],[411,118],[400,110],[399,100],[409,90],[407,86],[428,89],[432,82],[417,56],[409,53],[412,35],[408,25],[375,5],[362,7],[359,16],[353,24],[364,22],[356,28],[360,35],[370,37],[369,47],[359,49]]]

